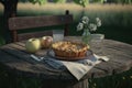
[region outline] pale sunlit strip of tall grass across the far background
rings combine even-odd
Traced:
[[[0,3],[0,11],[3,10],[2,4]],[[51,14],[59,14],[64,13],[65,10],[69,10],[72,13],[80,13],[82,10],[86,12],[89,11],[132,11],[131,4],[88,4],[86,8],[82,8],[75,3],[46,3],[43,6],[40,4],[33,4],[33,3],[21,3],[18,4],[18,12],[26,12],[29,13],[47,13]]]

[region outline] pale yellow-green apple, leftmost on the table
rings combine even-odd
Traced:
[[[25,48],[30,53],[35,53],[41,48],[41,41],[38,38],[29,38],[25,43]]]

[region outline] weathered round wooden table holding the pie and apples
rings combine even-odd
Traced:
[[[65,38],[77,41],[80,37]],[[0,65],[19,76],[42,78],[44,88],[88,88],[88,78],[114,75],[132,67],[132,45],[105,40],[103,53],[110,61],[96,65],[79,81],[68,70],[54,69],[44,62],[37,63],[32,59],[25,52],[24,42],[3,45],[0,48]],[[46,50],[40,50],[36,54],[45,55]]]

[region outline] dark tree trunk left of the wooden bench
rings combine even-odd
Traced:
[[[3,28],[3,35],[6,38],[7,43],[11,42],[11,32],[9,31],[8,28],[8,20],[11,16],[16,15],[16,6],[18,6],[18,0],[0,0],[0,2],[3,4],[4,10],[3,10],[3,18],[4,18],[4,28]]]

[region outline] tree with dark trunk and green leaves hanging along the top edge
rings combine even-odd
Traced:
[[[21,0],[22,1],[22,0]],[[25,1],[25,0],[23,0]],[[32,3],[40,3],[40,4],[45,4],[48,0],[26,0],[30,1]],[[75,3],[80,4],[82,7],[86,7],[86,4],[88,3],[88,0],[73,0]],[[18,7],[18,2],[19,0],[0,0],[0,2],[3,4],[4,7],[4,12],[3,12],[3,16],[4,16],[4,38],[7,43],[12,42],[12,37],[11,37],[11,32],[9,31],[9,26],[8,26],[8,20],[9,18],[15,16],[16,15],[16,7]],[[53,0],[53,2],[66,2],[66,0]]]

